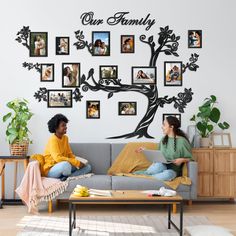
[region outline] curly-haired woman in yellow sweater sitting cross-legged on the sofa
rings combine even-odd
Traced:
[[[65,180],[69,176],[78,176],[91,172],[89,164],[84,165],[76,159],[69,145],[67,131],[68,119],[57,114],[48,122],[48,129],[53,135],[50,137],[45,153],[43,166],[44,175],[51,178]]]

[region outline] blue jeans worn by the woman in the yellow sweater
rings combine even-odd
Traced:
[[[72,166],[68,161],[61,161],[54,165],[48,172],[48,177],[50,178],[62,178],[62,177],[72,177],[78,175],[84,175],[91,172],[91,165],[87,164],[81,169],[77,169]]]

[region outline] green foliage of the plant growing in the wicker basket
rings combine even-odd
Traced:
[[[15,99],[7,103],[7,107],[12,112],[7,113],[3,117],[3,122],[9,120],[6,129],[6,138],[9,144],[15,142],[30,142],[29,129],[27,127],[28,121],[33,116],[33,113],[28,107],[28,101],[25,99]]]

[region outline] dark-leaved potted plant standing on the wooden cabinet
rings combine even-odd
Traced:
[[[205,98],[204,103],[198,107],[198,113],[190,119],[196,124],[198,133],[200,134],[200,146],[210,146],[210,135],[214,131],[215,126],[225,130],[230,127],[227,122],[219,122],[221,112],[215,106],[217,103],[216,96],[211,95],[210,98]]]

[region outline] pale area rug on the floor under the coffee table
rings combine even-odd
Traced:
[[[172,216],[178,225],[179,216]],[[143,216],[80,216],[73,236],[175,236],[177,231],[167,228],[167,217]],[[205,216],[184,216],[184,226],[211,224]],[[18,224],[18,236],[68,235],[68,217],[25,216]]]

